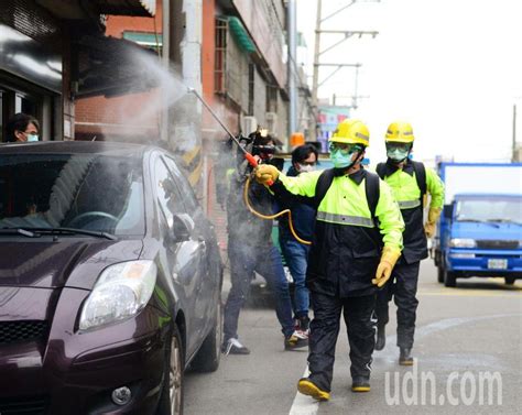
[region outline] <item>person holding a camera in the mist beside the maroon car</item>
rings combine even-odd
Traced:
[[[250,134],[246,150],[260,164],[270,163],[275,152],[274,140],[263,131]],[[243,190],[252,167],[240,153],[240,165],[230,177],[227,200],[228,258],[230,260],[231,288],[225,305],[224,343],[226,354],[249,354],[250,350],[238,339],[239,313],[250,291],[254,272],[261,274],[272,287],[285,350],[308,346],[308,338],[294,329],[289,282],[279,250],[271,238],[272,220],[253,215],[247,207]],[[250,182],[249,203],[263,215],[271,215],[274,199],[270,192],[255,181]]]

